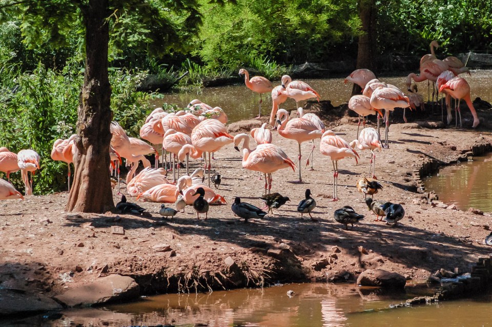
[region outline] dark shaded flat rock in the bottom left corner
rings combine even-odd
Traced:
[[[0,288],[0,317],[60,309],[59,303],[44,295]]]

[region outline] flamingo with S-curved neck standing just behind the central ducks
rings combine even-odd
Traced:
[[[250,137],[241,133],[234,137],[234,149],[242,143],[242,167],[248,170],[263,173],[265,176],[265,194],[272,189],[272,173],[284,168],[296,171],[294,162],[274,144],[259,144],[256,149],[250,150]],[[268,175],[268,176],[267,176]]]

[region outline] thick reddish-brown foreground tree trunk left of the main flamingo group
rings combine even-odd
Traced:
[[[89,0],[84,11],[86,69],[77,119],[75,174],[66,211],[114,208],[109,175],[112,112],[108,78],[108,0]]]

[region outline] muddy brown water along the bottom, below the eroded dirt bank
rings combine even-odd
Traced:
[[[292,290],[293,297],[286,293]],[[71,309],[58,314],[2,321],[2,326],[490,326],[490,298],[415,308],[387,309],[426,295],[413,288],[387,295],[354,284],[289,284],[212,294],[172,294],[104,309]],[[427,290],[425,292],[428,292]]]

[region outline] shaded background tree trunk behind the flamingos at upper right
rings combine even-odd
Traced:
[[[376,16],[375,0],[359,1],[359,17],[363,34],[359,36],[357,69],[367,68],[376,73]],[[376,74],[377,75],[377,74]]]

